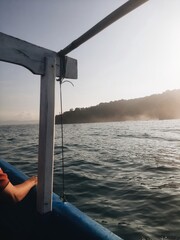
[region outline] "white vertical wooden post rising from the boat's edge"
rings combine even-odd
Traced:
[[[41,76],[39,159],[37,211],[52,210],[54,167],[54,104],[55,104],[55,56],[45,58],[45,75]]]

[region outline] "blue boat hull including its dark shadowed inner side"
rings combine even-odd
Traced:
[[[4,160],[0,160],[0,167],[13,184],[28,178]],[[34,187],[20,203],[1,204],[0,232],[4,239],[122,240],[71,203],[62,202],[55,193],[52,203],[52,212],[38,213]]]

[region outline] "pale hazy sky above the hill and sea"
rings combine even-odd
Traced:
[[[125,0],[0,0],[0,31],[59,51]],[[63,110],[180,88],[180,0],[149,0],[68,54]],[[39,116],[40,76],[0,62],[0,122]],[[56,109],[60,112],[59,84]]]

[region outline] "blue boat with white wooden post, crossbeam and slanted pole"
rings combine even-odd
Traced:
[[[41,76],[38,185],[23,201],[0,205],[0,235],[3,239],[122,239],[52,191],[55,81],[61,84],[63,79],[77,78],[77,60],[68,57],[69,52],[146,1],[127,1],[59,52],[0,33],[0,60],[21,65]],[[1,159],[0,167],[13,184],[28,178],[8,163],[8,159]]]

